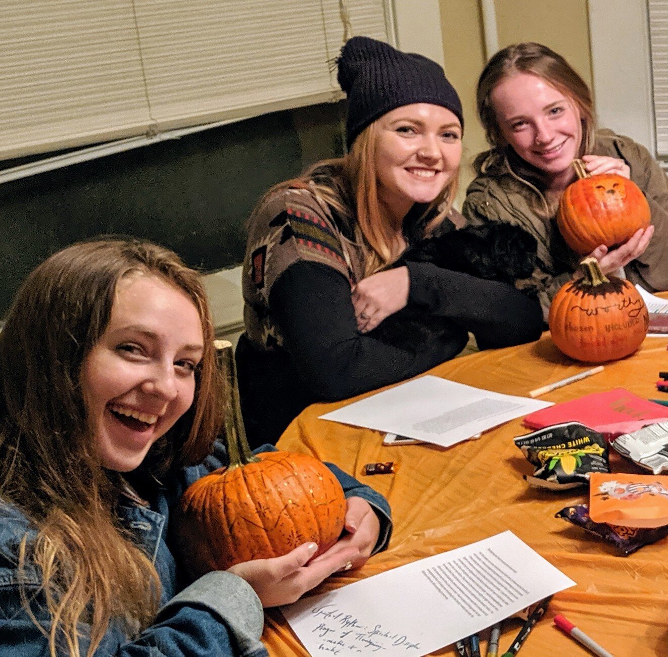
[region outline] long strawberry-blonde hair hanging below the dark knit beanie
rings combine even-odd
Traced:
[[[373,122],[359,133],[350,152],[343,158],[317,162],[298,178],[271,188],[258,205],[258,208],[261,207],[265,199],[277,190],[311,190],[319,202],[332,208],[351,227],[365,252],[364,276],[370,276],[395,262],[402,250],[378,200],[376,138],[377,122]],[[426,234],[448,216],[457,194],[458,181],[459,169],[438,197],[425,208],[422,218],[430,217]]]

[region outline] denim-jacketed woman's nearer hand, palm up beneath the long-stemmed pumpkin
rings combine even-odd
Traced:
[[[317,548],[315,543],[304,543],[285,556],[243,562],[231,566],[228,572],[246,580],[263,607],[291,604],[331,574],[343,570],[359,553],[357,547],[351,545],[332,554],[327,550],[317,560],[309,562]]]

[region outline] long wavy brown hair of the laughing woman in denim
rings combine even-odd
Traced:
[[[81,242],[57,252],[25,280],[0,333],[0,496],[37,528],[21,543],[19,573],[35,564],[51,626],[43,630],[23,591],[23,604],[59,650],[79,657],[81,625],[88,654],[110,622],[129,636],[152,622],[160,580],[144,552],[120,527],[117,473],[96,459],[80,385],[83,361],[108,326],[116,286],[143,272],[183,290],[202,322],[204,354],[194,403],[156,441],[143,473],[162,477],[198,463],[221,421],[213,325],[200,277],[174,252],[137,240]]]

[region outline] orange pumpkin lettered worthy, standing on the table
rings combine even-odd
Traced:
[[[566,356],[587,363],[632,354],[649,326],[643,298],[628,280],[604,276],[596,258],[585,258],[581,266],[582,278],[566,283],[552,299],[552,341]]]

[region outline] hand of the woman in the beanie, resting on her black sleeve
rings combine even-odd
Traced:
[[[371,274],[353,286],[352,301],[357,330],[373,331],[380,322],[408,302],[410,278],[407,267]]]

